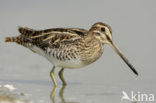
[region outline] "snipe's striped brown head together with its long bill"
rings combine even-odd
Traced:
[[[112,30],[111,27],[105,23],[98,22],[95,23],[89,32],[102,44],[108,44],[112,47],[116,53],[124,60],[124,62],[130,67],[130,69],[138,75],[138,72],[134,69],[133,65],[128,61],[128,59],[121,53],[117,46],[115,46],[112,40]]]

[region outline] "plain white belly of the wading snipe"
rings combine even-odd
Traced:
[[[48,61],[50,61],[52,64],[54,64],[56,67],[61,67],[61,68],[69,68],[69,69],[74,69],[74,68],[81,68],[86,65],[82,63],[79,57],[77,59],[72,59],[70,60],[58,60],[57,58],[53,57],[53,55],[47,54],[45,51],[42,49],[33,46],[31,50],[35,51],[36,53],[44,56]],[[56,52],[56,51],[55,51]]]

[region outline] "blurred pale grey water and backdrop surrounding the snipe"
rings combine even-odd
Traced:
[[[65,70],[64,102],[57,77],[55,102],[129,103],[121,101],[122,91],[156,95],[155,4],[155,0],[0,0],[0,85],[14,85],[35,103],[51,103],[53,65],[27,48],[5,43],[5,37],[19,35],[18,26],[89,29],[100,21],[112,27],[115,44],[135,66],[138,78],[105,45],[95,63]]]

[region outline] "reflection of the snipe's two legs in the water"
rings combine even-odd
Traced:
[[[51,100],[52,100],[52,103],[56,103],[56,102],[55,102],[56,88],[57,88],[57,87],[54,86],[54,88],[53,88],[53,90],[52,90],[52,92],[51,92],[51,94],[50,94],[50,98],[51,98]],[[61,99],[61,102],[59,102],[59,103],[78,103],[78,102],[75,102],[75,101],[66,101],[66,100],[65,100],[65,98],[64,98],[64,90],[65,90],[65,88],[66,88],[66,86],[62,86],[62,87],[60,88],[60,90],[59,90],[59,98]]]

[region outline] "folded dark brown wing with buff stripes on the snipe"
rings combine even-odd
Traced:
[[[80,28],[34,30],[20,27],[19,32],[22,36],[29,39],[33,45],[42,49],[46,49],[47,47],[58,48],[60,43],[71,43],[88,34],[87,30]]]

